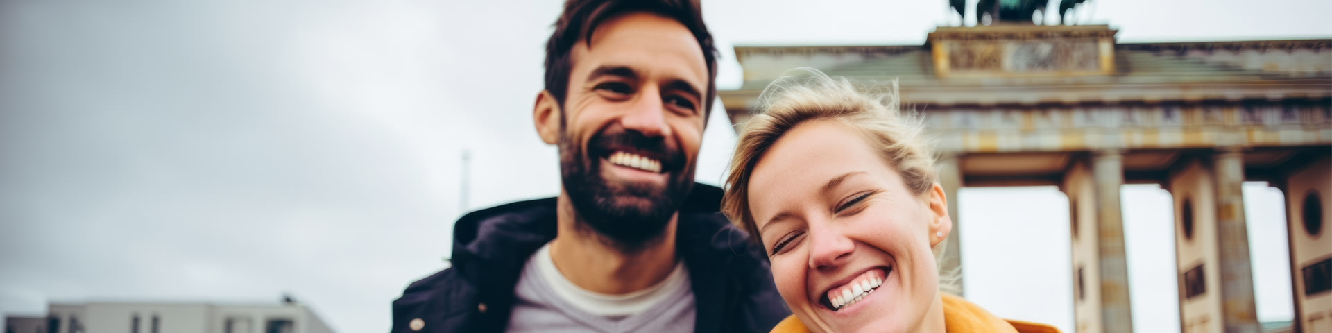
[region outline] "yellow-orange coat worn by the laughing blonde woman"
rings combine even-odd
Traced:
[[[996,333],[1059,333],[1059,329],[1046,324],[1019,320],[1000,320],[960,297],[943,294],[943,325],[948,333],[996,332]],[[773,333],[809,333],[795,316],[786,317],[773,328]]]

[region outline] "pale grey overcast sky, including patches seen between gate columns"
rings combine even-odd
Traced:
[[[389,302],[444,266],[460,213],[558,192],[555,151],[530,116],[558,11],[0,0],[0,312],[289,292],[338,332],[388,330]],[[1321,0],[1091,0],[1079,16],[1120,41],[1172,41],[1329,37],[1329,12]],[[948,15],[943,0],[705,1],[723,89],[741,84],[734,45],[920,44]],[[713,115],[698,178],[717,184],[734,133]],[[1124,193],[1135,326],[1176,330],[1168,193]],[[1253,257],[1273,258],[1253,269],[1259,317],[1288,320],[1280,193],[1244,194]],[[968,298],[1071,332],[1063,194],[968,188],[956,202]]]

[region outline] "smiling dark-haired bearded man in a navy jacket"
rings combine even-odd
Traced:
[[[767,332],[790,314],[762,249],[694,184],[717,57],[697,0],[570,0],[533,119],[558,197],[464,216],[453,266],[393,332]]]

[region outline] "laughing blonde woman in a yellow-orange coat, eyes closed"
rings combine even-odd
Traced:
[[[743,124],[722,202],[767,250],[794,312],[773,332],[1058,332],[946,293],[948,201],[896,84],[798,71]]]

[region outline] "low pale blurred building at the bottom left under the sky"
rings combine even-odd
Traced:
[[[4,333],[333,333],[309,306],[206,302],[52,304],[45,317],[5,317]]]

